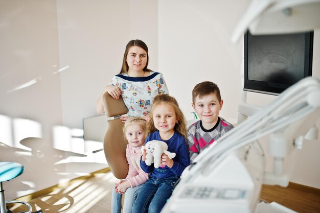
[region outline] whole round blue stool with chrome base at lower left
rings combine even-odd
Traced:
[[[5,190],[2,182],[9,181],[24,173],[24,166],[16,162],[0,162],[0,213],[12,212],[7,208],[7,203],[21,203],[28,206],[29,210],[25,213],[31,213],[32,207],[29,203],[18,200],[5,200]],[[42,212],[42,211],[41,211]]]

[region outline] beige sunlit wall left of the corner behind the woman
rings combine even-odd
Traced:
[[[103,152],[84,152],[82,119],[97,115],[129,40],[147,43],[149,67],[157,69],[157,2],[0,5],[0,161],[25,166],[4,183],[12,199],[107,167]]]

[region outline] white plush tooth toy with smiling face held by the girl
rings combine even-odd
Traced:
[[[146,149],[146,164],[151,165],[154,162],[154,168],[159,168],[161,165],[161,155],[165,153],[170,159],[175,157],[174,152],[168,151],[168,145],[164,141],[151,140],[146,146],[142,146],[141,150]]]

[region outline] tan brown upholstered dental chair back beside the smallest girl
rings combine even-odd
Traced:
[[[123,99],[113,99],[108,92],[103,95],[104,112],[108,117],[126,114],[128,109]],[[123,123],[120,119],[109,120],[108,129],[104,136],[104,154],[113,175],[125,179],[129,165],[126,159],[127,140],[123,135]],[[123,196],[124,197],[124,196]]]

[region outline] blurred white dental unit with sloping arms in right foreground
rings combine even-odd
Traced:
[[[228,190],[227,193],[231,192],[235,195],[235,193],[239,192],[242,194],[240,195],[238,193],[238,197],[233,197],[236,199],[226,197],[227,199],[223,201],[221,201],[221,199],[202,199],[201,201],[205,202],[205,205],[197,205],[199,212],[233,212],[235,205],[237,205],[237,209],[242,209],[237,212],[253,212],[259,199],[262,184],[261,179],[264,179],[264,177],[257,172],[262,164],[257,164],[256,167],[250,167],[252,163],[255,163],[249,162],[247,159],[249,155],[246,155],[246,152],[250,152],[250,146],[259,144],[256,143],[259,138],[271,135],[270,141],[273,143],[273,146],[282,149],[282,152],[279,153],[277,153],[277,149],[274,149],[274,153],[272,153],[273,156],[279,155],[280,158],[283,158],[294,149],[297,141],[301,140],[301,136],[308,133],[309,129],[314,126],[319,117],[320,82],[315,78],[308,77],[282,92],[277,100],[263,107],[246,121],[220,137],[217,143],[210,145],[201,152],[195,158],[193,164],[182,173],[181,180],[173,191],[163,212],[192,212],[194,210],[194,202],[188,200],[188,193],[191,194],[192,192],[186,191],[186,188],[192,185],[194,188],[198,186],[203,187],[206,184],[208,188],[212,186],[211,192],[214,192],[214,188],[223,185],[224,188],[228,189],[236,188],[236,190],[233,191]],[[248,146],[249,148],[246,148]],[[235,155],[234,153],[236,152],[238,152],[238,154]],[[222,182],[211,181],[221,181],[221,179],[215,178],[215,175],[219,175],[215,170],[220,169],[220,173],[223,173],[223,169],[221,169],[219,165],[223,164],[224,161],[230,160],[233,155],[237,156],[237,159],[240,159],[234,160],[233,162],[242,161],[246,164],[248,172],[244,173],[250,174],[252,181],[243,183],[243,186],[239,184],[235,185],[233,181],[229,182],[230,185],[226,185],[226,182],[222,184],[223,180]],[[263,154],[261,154],[261,156],[262,155]],[[226,165],[232,166],[232,164]],[[238,167],[241,167],[241,165],[239,164]],[[261,169],[263,173],[264,168]],[[278,171],[278,169],[279,168],[274,172],[275,174],[272,174],[272,177],[266,177],[266,179],[269,178],[269,181],[275,183],[278,181],[277,177],[280,177],[280,184],[285,185],[287,179],[281,179],[281,166],[280,171]],[[229,178],[234,178],[234,182],[237,182],[237,179],[239,179],[238,176],[240,177],[241,174]],[[201,181],[202,183],[199,184]],[[230,195],[230,193],[227,195]],[[212,193],[210,196],[212,196]],[[220,202],[221,205],[218,205],[218,202]],[[230,203],[228,204],[228,202]],[[201,206],[203,209],[201,209]],[[223,206],[223,208],[221,206]],[[246,207],[240,208],[239,206]],[[180,211],[179,209],[185,211]],[[221,211],[221,209],[223,210]]]

